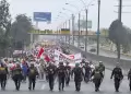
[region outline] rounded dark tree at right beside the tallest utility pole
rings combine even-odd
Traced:
[[[119,20],[116,20],[111,23],[109,27],[108,37],[114,44],[116,44],[117,52],[118,52],[118,60],[119,60],[121,47],[127,48],[130,42],[128,31]]]

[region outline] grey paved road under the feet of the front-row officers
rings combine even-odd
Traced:
[[[94,84],[91,82],[88,84],[82,82],[82,89],[81,92],[75,92],[74,90],[74,82],[73,80],[70,83],[70,86],[67,86],[64,89],[64,92],[58,91],[58,82],[56,81],[55,90],[53,92],[49,91],[48,83],[47,82],[37,82],[36,83],[36,90],[35,91],[28,91],[28,83],[23,83],[21,86],[21,90],[17,92],[14,89],[13,81],[8,81],[7,91],[1,91],[1,94],[118,94],[115,92],[114,89],[114,80],[110,80],[111,71],[106,70],[105,79],[100,86],[100,92],[96,93],[94,91]],[[120,93],[119,94],[130,94],[129,87],[128,87],[128,80],[127,78],[123,79],[121,86],[120,86]]]

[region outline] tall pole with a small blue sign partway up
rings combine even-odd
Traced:
[[[98,0],[97,55],[99,55],[99,19],[100,19],[100,0]]]

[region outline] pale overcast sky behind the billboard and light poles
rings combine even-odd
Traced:
[[[40,30],[45,28],[52,28],[56,30],[62,22],[69,20],[71,17],[70,11],[64,11],[62,8],[71,10],[75,15],[75,22],[78,20],[78,12],[79,10],[84,9],[84,4],[81,0],[8,0],[10,2],[10,11],[12,19],[17,14],[26,14],[27,16],[33,17],[33,12],[51,12],[52,14],[52,22],[51,24],[39,23],[38,27]],[[88,4],[92,0],[83,0],[86,4]],[[123,5],[131,5],[130,0],[123,0]],[[73,4],[73,5],[66,5],[66,3]],[[93,21],[93,31],[97,30],[97,0],[93,0],[92,2],[94,5],[88,8],[88,20]],[[118,0],[102,0],[102,8],[100,8],[100,27],[109,27],[110,23],[118,17],[117,5]],[[124,7],[123,12],[131,12],[131,7]],[[60,14],[59,12],[63,12]],[[66,13],[66,14],[64,14]],[[57,16],[60,15],[59,19]],[[82,11],[81,15],[85,15],[85,12]],[[81,17],[83,19],[83,17]],[[131,13],[123,13],[122,14],[122,22],[124,25],[131,27]],[[34,22],[35,24],[35,22]]]

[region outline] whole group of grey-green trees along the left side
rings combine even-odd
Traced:
[[[0,1],[0,57],[14,49],[23,49],[29,45],[28,31],[33,30],[32,21],[25,14],[19,14],[12,22],[7,0]]]

